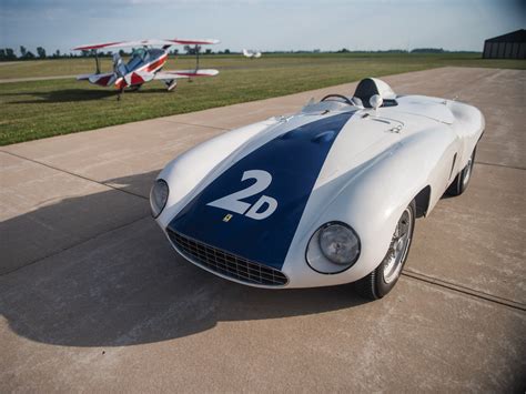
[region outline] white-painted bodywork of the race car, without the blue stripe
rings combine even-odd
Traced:
[[[393,99],[391,88],[381,87],[383,94]],[[292,117],[247,125],[191,149],[159,175],[170,186],[166,206],[156,219],[159,225],[166,232],[171,220],[214,179],[266,142],[302,124],[355,111],[322,165],[281,271],[289,277],[284,287],[334,285],[364,277],[385,256],[405,208],[429,188],[428,215],[467,164],[485,128],[483,114],[461,102],[423,95],[396,97],[396,107],[377,110],[334,101],[310,103]],[[323,274],[308,266],[305,253],[313,233],[332,221],[353,228],[362,251],[348,270]],[[184,257],[219,276],[250,284]]]

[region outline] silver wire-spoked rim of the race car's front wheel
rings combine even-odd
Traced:
[[[406,208],[391,240],[391,246],[386,256],[387,262],[383,272],[385,283],[391,283],[398,277],[409,249],[412,232],[413,211]]]

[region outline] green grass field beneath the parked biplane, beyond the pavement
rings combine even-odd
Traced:
[[[193,62],[180,57],[169,60],[165,69],[191,68]],[[0,145],[444,65],[526,69],[522,60],[463,53],[283,54],[257,60],[208,55],[201,67],[219,69],[218,77],[180,81],[172,93],[152,82],[121,101],[113,89],[74,79],[0,83]],[[92,59],[16,62],[0,64],[0,80],[72,75],[93,68]],[[103,59],[103,71],[110,68],[110,60]]]

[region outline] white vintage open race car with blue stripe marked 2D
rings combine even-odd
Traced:
[[[331,94],[180,155],[154,182],[152,214],[183,257],[224,279],[360,281],[380,299],[399,277],[415,218],[466,189],[484,125],[474,107],[367,78],[353,98]]]

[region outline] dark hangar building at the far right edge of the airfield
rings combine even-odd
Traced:
[[[484,42],[483,59],[526,59],[526,30],[487,39]]]

